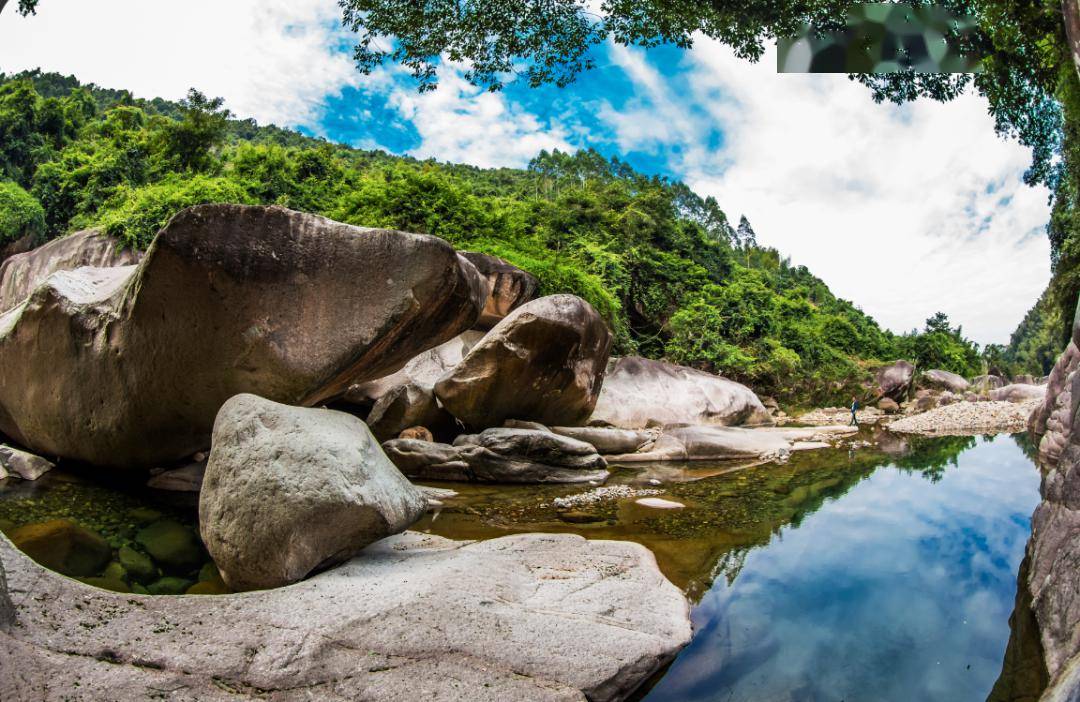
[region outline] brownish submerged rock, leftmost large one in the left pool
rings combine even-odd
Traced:
[[[12,531],[11,540],[26,555],[65,576],[94,576],[112,557],[99,534],[68,519],[27,524]]]

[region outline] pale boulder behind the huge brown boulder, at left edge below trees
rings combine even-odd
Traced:
[[[0,265],[0,312],[15,307],[56,271],[91,266],[132,266],[143,255],[113,237],[90,229],[8,258]]]

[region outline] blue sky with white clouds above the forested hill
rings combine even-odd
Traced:
[[[1030,157],[966,95],[877,105],[845,76],[775,72],[699,40],[689,51],[605,45],[566,89],[469,85],[444,65],[354,67],[336,0],[42,0],[0,14],[0,71],[73,73],[139,97],[221,96],[255,118],[361,148],[480,166],[595,148],[714,195],[758,243],[807,266],[894,332],[947,313],[1007,342],[1050,276],[1049,192]]]

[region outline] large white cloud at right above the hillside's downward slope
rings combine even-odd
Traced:
[[[771,52],[751,65],[707,41],[677,86],[639,52],[612,55],[639,94],[600,112],[621,149],[670,149],[691,187],[886,326],[941,310],[1002,342],[1045,286],[1047,190],[1022,183],[1029,153],[981,98],[877,105],[845,76],[777,73]]]

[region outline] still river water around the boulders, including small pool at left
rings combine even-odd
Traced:
[[[1025,607],[1010,627],[1039,501],[1029,454],[1023,435],[864,429],[783,464],[615,469],[609,485],[660,490],[681,510],[633,498],[556,505],[588,486],[444,484],[459,495],[414,528],[647,545],[687,593],[694,624],[691,644],[639,693],[650,702],[975,702],[991,690],[993,702],[1035,699],[1030,636],[1017,635]],[[124,592],[224,591],[193,507],[59,469],[37,484],[0,482],[0,529],[30,534],[35,557],[56,563],[84,566],[69,556],[98,543],[92,567],[68,575]],[[73,539],[75,527],[93,539]]]

